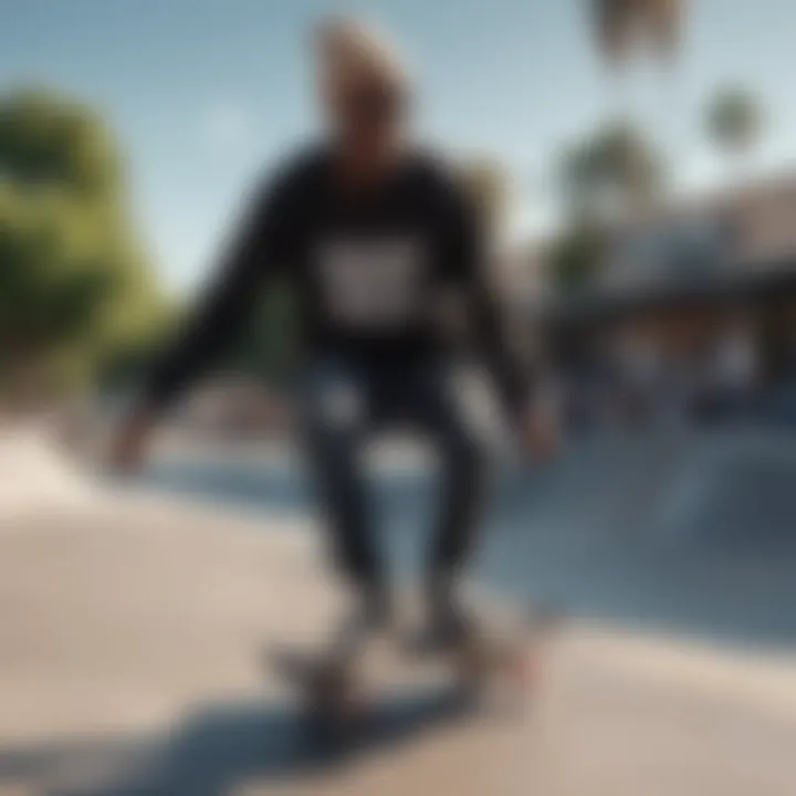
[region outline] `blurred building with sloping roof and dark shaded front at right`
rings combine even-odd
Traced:
[[[544,248],[523,256],[513,292],[567,371],[692,394],[796,378],[796,175],[616,224],[577,291],[554,287]]]

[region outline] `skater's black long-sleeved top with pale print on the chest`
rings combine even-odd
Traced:
[[[485,364],[511,410],[526,385],[504,345],[485,280],[484,235],[470,197],[426,155],[407,157],[371,188],[346,188],[328,154],[298,157],[259,191],[224,262],[178,344],[146,388],[170,401],[230,345],[265,283],[297,289],[302,336],[312,353],[411,357],[444,345],[442,292],[467,297]]]

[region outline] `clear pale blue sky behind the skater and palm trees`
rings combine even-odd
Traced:
[[[790,167],[796,3],[691,6],[677,67],[638,64],[617,85],[595,57],[586,0],[0,0],[0,88],[45,83],[103,108],[158,268],[184,290],[212,264],[255,171],[313,132],[304,36],[320,12],[367,12],[395,34],[418,78],[422,129],[511,167],[514,234],[554,218],[562,143],[617,109],[666,146],[681,186],[716,184],[700,114],[726,81],[767,109],[753,167]]]

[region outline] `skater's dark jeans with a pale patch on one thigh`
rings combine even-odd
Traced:
[[[420,431],[442,470],[441,505],[429,556],[429,584],[455,576],[473,545],[484,458],[453,397],[450,364],[437,356],[395,360],[328,354],[310,368],[304,430],[337,565],[366,591],[386,590],[360,453],[390,427]]]

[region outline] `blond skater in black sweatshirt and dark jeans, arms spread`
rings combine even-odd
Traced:
[[[506,412],[544,453],[549,427],[527,411],[530,380],[503,335],[485,277],[485,234],[471,197],[410,133],[406,70],[371,31],[321,27],[316,40],[325,138],[266,180],[178,344],[147,380],[117,434],[134,467],[164,409],[233,339],[281,275],[297,290],[302,440],[335,559],[366,627],[391,617],[384,562],[368,522],[358,453],[371,433],[409,423],[439,452],[441,512],[426,584],[427,638],[461,640],[469,620],[457,582],[479,520],[483,455],[453,395],[453,357],[439,298],[465,298],[474,337]]]

